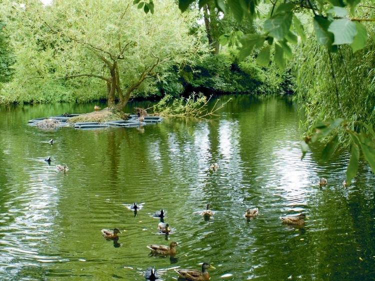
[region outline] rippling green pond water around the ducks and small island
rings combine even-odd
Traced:
[[[322,164],[316,148],[300,160],[301,114],[289,98],[232,96],[210,120],[141,128],[27,124],[92,108],[0,108],[0,279],[144,280],[155,266],[176,280],[174,268],[202,262],[216,267],[211,280],[375,279],[375,176],[362,163],[342,186],[345,151]],[[320,188],[319,177],[328,184]],[[136,214],[126,207],[134,201],[143,204]],[[206,221],[199,211],[208,202],[215,214]],[[244,218],[247,207],[258,217]],[[161,208],[168,236],[150,216]],[[299,212],[304,227],[281,224],[279,216]],[[118,241],[101,236],[114,227]],[[174,257],[149,255],[147,244],[171,241]]]

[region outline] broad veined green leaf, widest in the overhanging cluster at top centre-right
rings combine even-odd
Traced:
[[[277,40],[282,40],[289,32],[292,16],[293,14],[291,12],[271,16],[264,21],[264,29],[267,30],[272,37],[275,37]]]

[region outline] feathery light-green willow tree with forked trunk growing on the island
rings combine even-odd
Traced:
[[[108,107],[122,110],[140,87],[151,91],[171,65],[193,64],[206,52],[199,36],[189,34],[193,15],[181,14],[173,0],[156,3],[158,11],[146,14],[132,0],[3,2],[17,58],[3,94],[16,100],[54,84],[89,99],[86,91],[100,88]]]

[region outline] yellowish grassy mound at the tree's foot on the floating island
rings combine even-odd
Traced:
[[[67,120],[69,123],[76,122],[98,122],[104,123],[114,120],[126,120],[128,115],[119,111],[112,111],[109,109],[102,109],[99,111],[88,112],[78,116],[71,117]]]

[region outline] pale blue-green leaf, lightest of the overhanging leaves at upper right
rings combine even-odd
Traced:
[[[351,44],[357,33],[356,25],[348,18],[339,18],[332,21],[328,31],[334,34],[334,45]]]

